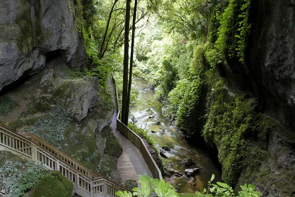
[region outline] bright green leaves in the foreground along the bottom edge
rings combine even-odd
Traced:
[[[208,181],[208,189],[204,189],[203,192],[196,192],[196,194],[177,194],[174,187],[170,185],[170,183],[164,181],[163,178],[152,179],[145,176],[139,176],[140,182],[142,184],[142,188],[133,188],[133,193],[124,191],[117,192],[116,194],[120,197],[148,197],[152,196],[152,193],[156,193],[158,197],[261,197],[262,194],[256,191],[254,185],[243,185],[240,186],[241,191],[237,194],[234,193],[232,187],[230,187],[226,183],[217,182],[216,184],[212,184],[211,182],[214,180],[214,174],[212,174],[211,179]]]

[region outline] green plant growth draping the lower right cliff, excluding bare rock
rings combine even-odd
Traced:
[[[257,170],[268,157],[264,147],[252,144],[250,139],[259,136],[267,141],[267,132],[273,123],[256,112],[255,99],[248,99],[243,93],[230,95],[224,88],[224,79],[214,70],[206,74],[211,90],[207,96],[204,137],[217,146],[223,180],[234,185],[242,169],[251,166],[249,170]]]

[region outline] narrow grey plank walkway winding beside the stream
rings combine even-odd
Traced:
[[[138,187],[141,188],[138,175],[148,174],[148,176],[150,177],[153,176],[140,150],[136,146],[134,146],[120,131],[117,130],[118,105],[112,79],[108,80],[108,87],[110,90],[110,94],[114,99],[114,104],[116,108],[112,118],[111,127],[113,128],[113,132],[123,148],[123,152],[117,162],[117,168],[124,184],[126,180],[133,179],[137,181]]]

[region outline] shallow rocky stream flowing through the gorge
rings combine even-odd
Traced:
[[[163,117],[161,109],[157,107],[159,101],[154,98],[153,89],[141,78],[135,78],[134,82],[142,101],[140,106],[131,112],[131,115],[137,120],[136,125],[138,127],[146,128],[145,131],[148,131],[148,136],[155,142],[156,149],[160,150],[163,146],[171,148],[171,151],[165,152],[168,158],[165,159],[160,156],[164,166],[185,174],[180,161],[190,157],[200,167],[200,172],[193,178],[186,179],[184,176],[173,176],[166,178],[166,180],[172,182],[175,188],[181,192],[203,191],[204,187],[207,188],[207,181],[212,174],[215,174],[215,181],[221,181],[221,171],[212,162],[207,150],[198,148],[197,144],[189,144],[172,126],[169,126],[170,121]],[[150,101],[153,101],[153,103]],[[160,124],[157,125],[156,122],[160,122]]]

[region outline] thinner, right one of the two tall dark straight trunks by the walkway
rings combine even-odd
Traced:
[[[131,83],[132,83],[132,66],[133,66],[133,53],[134,53],[136,10],[137,10],[137,0],[135,0],[135,2],[134,2],[133,22],[132,22],[131,54],[130,54],[129,83],[128,83],[127,110],[126,110],[126,117],[127,118],[129,117],[130,94],[131,94]]]

